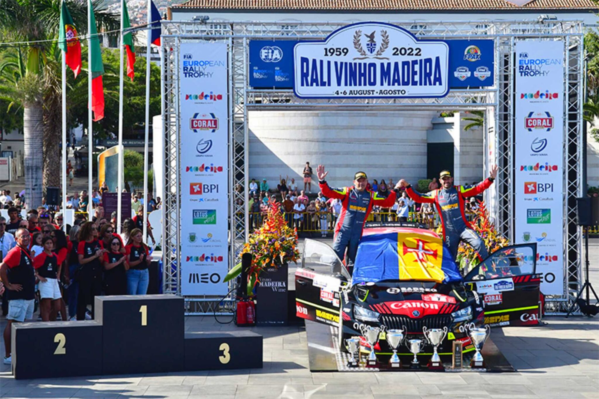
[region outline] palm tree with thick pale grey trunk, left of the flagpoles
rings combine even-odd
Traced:
[[[78,32],[85,34],[87,2],[65,1]],[[99,30],[118,28],[118,20],[104,11],[101,0],[92,4]],[[56,167],[60,165],[60,123],[56,123],[56,116],[60,114],[61,105],[61,55],[54,41],[59,32],[60,5],[61,0],[0,0],[3,40],[29,42],[23,47],[11,47],[3,52],[13,53],[7,56],[7,59],[13,59],[13,64],[7,65],[5,70],[18,72],[18,79],[3,78],[6,74],[0,74],[0,93],[23,108],[25,198],[29,208],[41,205],[44,169],[47,170],[47,179],[52,176],[52,171],[60,170]],[[20,54],[15,56],[14,53]],[[53,143],[53,146],[44,148],[44,143]],[[58,173],[56,176],[59,176]]]

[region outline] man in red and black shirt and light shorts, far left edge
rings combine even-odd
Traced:
[[[4,329],[4,364],[11,364],[11,325],[13,322],[31,319],[34,315],[35,272],[34,261],[29,255],[31,235],[26,228],[18,229],[15,240],[17,246],[8,251],[0,264],[0,279],[8,297],[7,325]]]

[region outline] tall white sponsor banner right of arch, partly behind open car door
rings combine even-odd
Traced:
[[[564,294],[564,42],[516,43],[515,242],[537,243],[541,292]]]

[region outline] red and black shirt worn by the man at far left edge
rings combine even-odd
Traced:
[[[7,299],[24,299],[32,300],[35,298],[35,271],[34,261],[31,259],[29,251],[16,246],[2,260],[8,266],[8,282],[11,284],[20,284],[23,289],[21,291],[7,292]]]

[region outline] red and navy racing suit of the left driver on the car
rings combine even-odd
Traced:
[[[353,265],[368,214],[374,205],[391,208],[395,203],[395,191],[391,191],[389,197],[382,198],[376,192],[358,191],[353,186],[332,189],[326,181],[321,181],[319,184],[320,191],[325,197],[341,200],[341,213],[335,223],[333,250],[339,259],[343,259],[347,248],[346,264]]]

